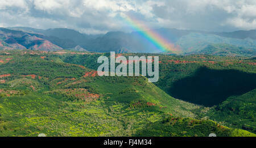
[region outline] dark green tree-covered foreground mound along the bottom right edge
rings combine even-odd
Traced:
[[[216,134],[217,137],[255,136],[255,134],[245,130],[231,129],[214,121],[172,116],[166,117],[166,119],[161,122],[154,122],[153,124],[145,126],[142,130],[138,130],[134,136],[207,137],[210,133]]]

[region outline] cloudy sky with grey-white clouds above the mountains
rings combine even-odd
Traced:
[[[0,27],[72,28],[97,34],[131,31],[133,16],[150,28],[256,29],[256,0],[1,0]]]

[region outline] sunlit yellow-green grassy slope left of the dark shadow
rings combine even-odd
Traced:
[[[56,59],[53,55],[44,55],[49,56],[44,59],[40,56],[3,56],[14,59],[0,65],[1,74],[11,74],[3,78],[6,83],[0,85],[4,90],[0,95],[0,136],[37,136],[39,133],[47,136],[136,136],[147,125],[165,126],[162,122],[165,116],[196,117],[191,111],[199,109],[197,105],[172,98],[147,83],[144,77],[84,78],[82,75],[89,69],[52,60]],[[22,76],[30,74],[36,77]],[[82,100],[76,92],[65,92],[78,88],[85,88],[86,95],[98,94],[100,98],[84,96]],[[14,90],[20,92],[11,94]],[[207,125],[212,122],[207,121]],[[175,131],[183,127],[167,130],[179,133]],[[200,128],[191,132],[189,136],[209,134],[200,134]],[[248,133],[238,130],[237,134],[222,135],[248,136]],[[154,136],[175,135],[156,132]]]

